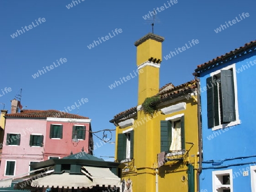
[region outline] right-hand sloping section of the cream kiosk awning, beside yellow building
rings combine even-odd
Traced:
[[[92,178],[94,185],[99,186],[120,186],[120,178],[112,173],[109,168],[97,168],[93,166],[82,166],[86,170],[82,170],[82,173]]]

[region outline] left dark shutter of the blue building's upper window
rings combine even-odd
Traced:
[[[207,119],[208,127],[214,126],[214,101],[212,77],[207,78]]]

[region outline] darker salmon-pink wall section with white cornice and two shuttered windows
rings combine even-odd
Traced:
[[[61,124],[63,126],[63,138],[56,139],[50,138],[51,124]],[[85,126],[85,139],[79,140],[79,143],[72,142],[73,126]],[[46,124],[46,145],[44,152],[44,160],[51,157],[65,157],[71,154],[81,152],[84,147],[84,152],[89,152],[90,146],[90,119],[60,119],[60,118],[47,118]]]

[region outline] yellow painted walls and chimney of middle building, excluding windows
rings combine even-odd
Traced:
[[[122,160],[122,162],[126,164],[126,167],[122,172],[122,179],[127,181],[130,178],[130,180],[133,182],[133,192],[188,191],[187,164],[193,165],[195,169],[194,186],[196,188],[198,152],[197,102],[191,97],[188,99],[186,99],[184,96],[169,98],[156,105],[154,115],[144,114],[144,111],[140,105],[147,97],[152,97],[159,94],[158,65],[160,62],[157,63],[157,60],[162,60],[163,37],[154,37],[154,35],[151,34],[144,36],[142,39],[141,44],[138,43],[138,41],[135,43],[137,46],[137,66],[141,66],[151,57],[156,60],[154,60],[155,63],[153,62],[152,65],[150,64],[152,62],[147,62],[147,64],[142,68],[143,73],[139,74],[137,110],[135,110],[133,113],[129,113],[129,111],[123,112],[119,118],[117,115],[115,116],[115,119],[110,121],[115,123],[117,126],[115,160],[119,161],[118,153],[120,153],[120,150],[118,148],[118,137],[126,132],[129,132],[130,130],[133,130],[133,157]],[[191,87],[191,84],[195,86],[195,82],[181,85],[181,91],[185,87]],[[173,89],[177,89],[177,87],[174,87]],[[160,93],[160,95],[163,94],[164,93]],[[184,91],[184,94],[189,95],[190,93]],[[134,95],[134,97],[136,96]],[[171,112],[169,114],[164,114],[161,111],[161,109],[165,107],[171,107],[177,104],[179,105],[179,103],[183,103],[185,108],[181,108],[180,110]],[[171,160],[159,167],[158,154],[161,152],[160,145],[162,142],[160,135],[160,122],[161,120],[167,121],[168,118],[180,115],[184,116],[185,153],[179,156],[179,158],[182,160]],[[126,120],[129,121],[130,119],[133,119],[132,123],[119,126],[120,123],[126,122]]]

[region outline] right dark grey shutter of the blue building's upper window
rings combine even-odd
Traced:
[[[236,119],[234,82],[232,70],[221,70],[221,94],[223,122],[229,123]]]

